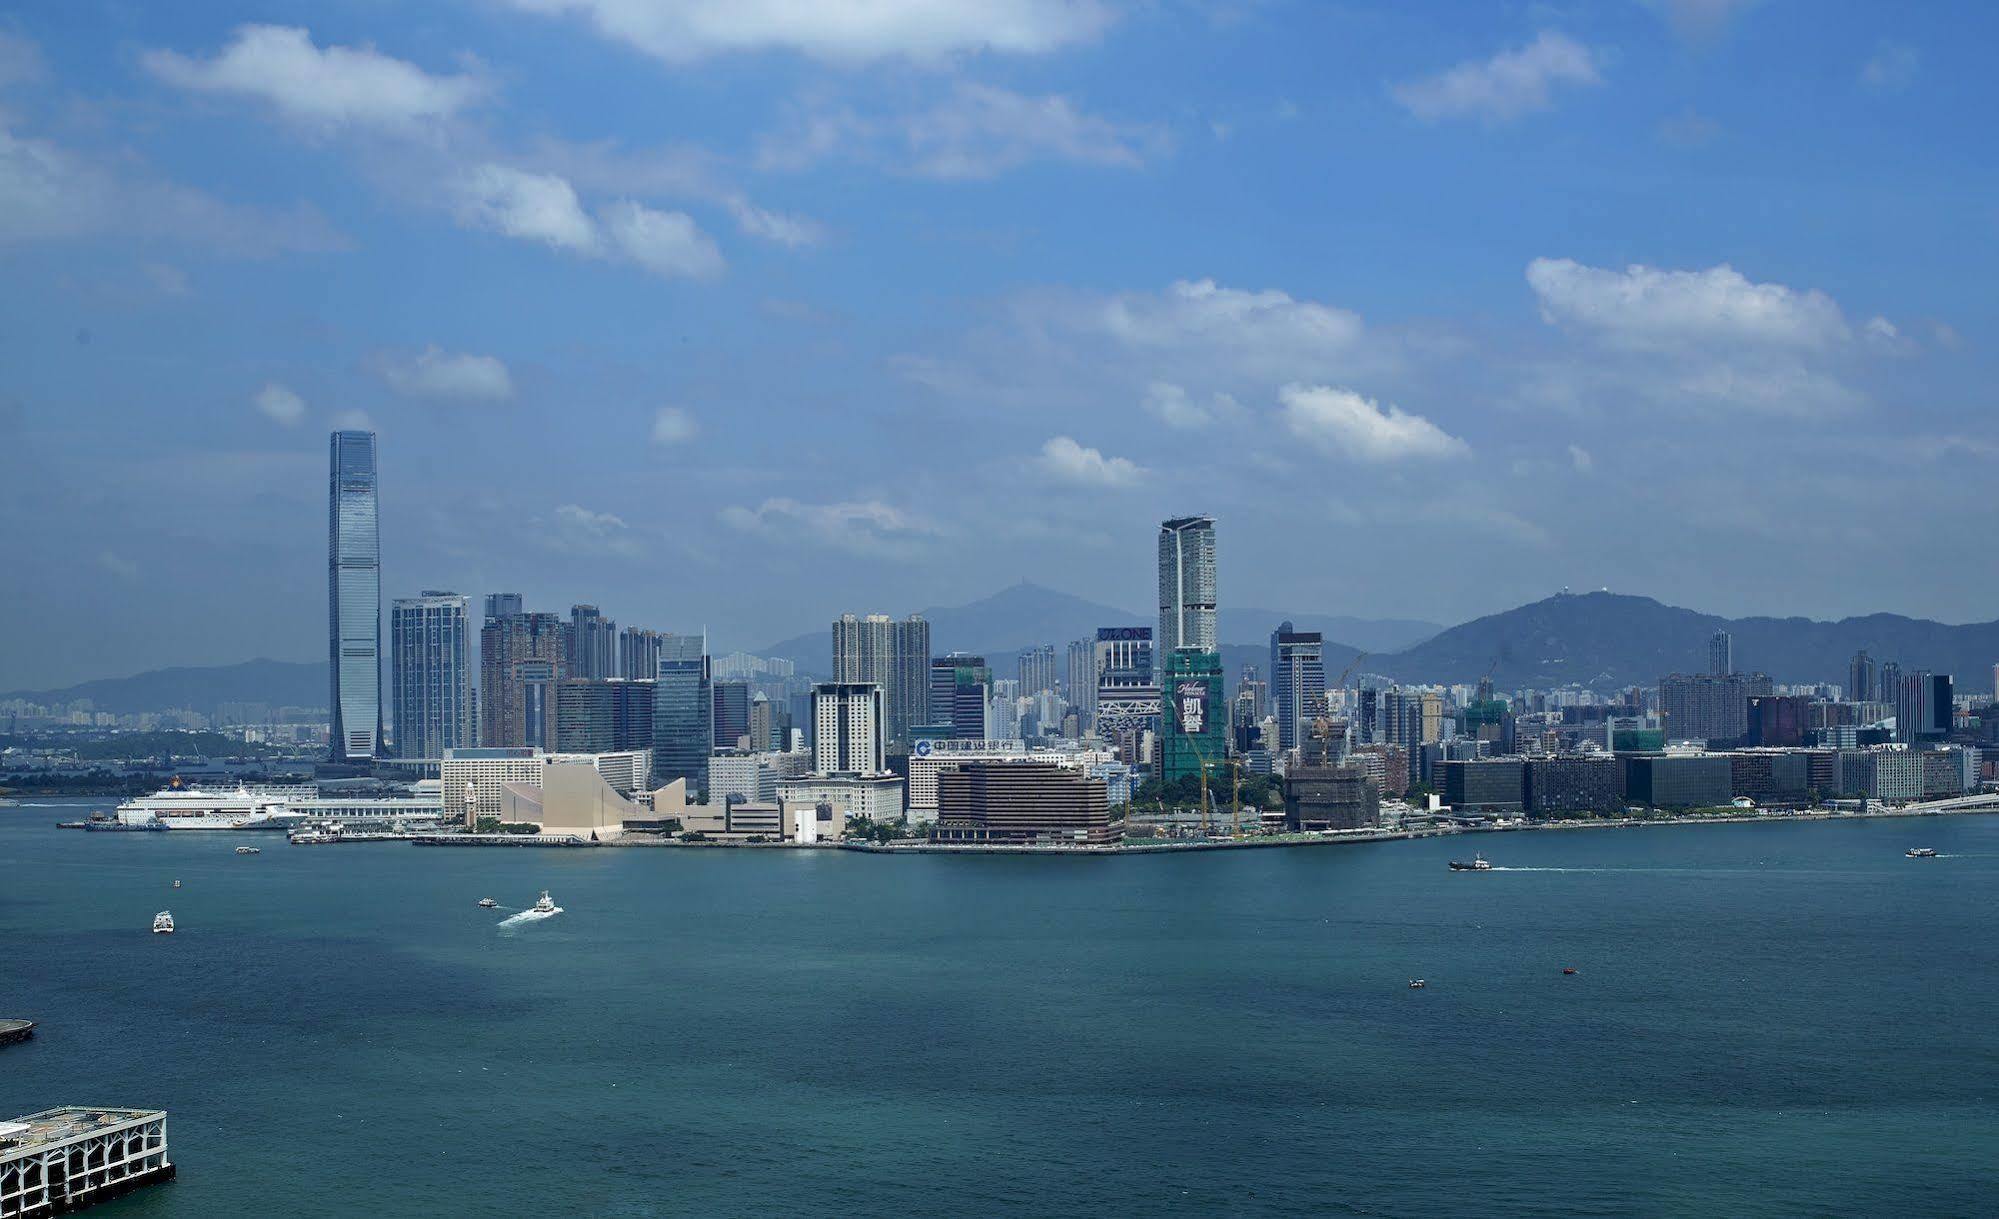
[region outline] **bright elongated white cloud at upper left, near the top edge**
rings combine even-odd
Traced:
[[[240,26],[214,58],[150,50],[140,62],[176,88],[260,98],[312,128],[414,128],[486,96],[474,76],[432,76],[372,46],[312,44],[298,26]]]

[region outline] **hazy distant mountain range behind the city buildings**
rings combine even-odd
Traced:
[[[970,606],[924,610],[938,653],[986,655],[996,675],[1013,675],[1013,655],[1033,643],[1085,639],[1099,625],[1149,625],[1155,613],[1133,613],[1035,584],[1015,584]],[[1649,685],[1663,673],[1707,667],[1707,639],[1717,629],[1735,635],[1735,663],[1777,681],[1847,681],[1847,661],[1865,647],[1875,661],[1905,669],[1953,673],[1961,689],[1987,689],[1999,663],[1999,621],[1947,625],[1899,613],[1869,613],[1839,621],[1809,617],[1717,617],[1651,598],[1563,594],[1489,613],[1447,629],[1409,619],[1357,619],[1275,610],[1223,610],[1221,663],[1235,683],[1243,663],[1267,667],[1269,631],[1289,617],[1299,629],[1325,633],[1325,677],[1347,665],[1355,673],[1399,681],[1471,683],[1491,675],[1501,689],[1523,685]],[[1351,637],[1341,637],[1347,631]],[[1373,643],[1369,647],[1369,643]],[[818,627],[760,655],[782,655],[806,673],[832,669],[832,631]],[[1357,661],[1357,663],[1355,663]],[[1057,659],[1057,669],[1063,661]],[[40,703],[92,699],[104,711],[194,707],[262,701],[298,707],[326,705],[326,663],[252,659],[236,665],[174,667],[84,681],[66,689],[12,691]]]

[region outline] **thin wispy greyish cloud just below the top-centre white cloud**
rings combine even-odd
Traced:
[[[802,170],[840,156],[922,178],[984,180],[1041,160],[1133,170],[1167,146],[1161,128],[1099,118],[1059,94],[960,82],[942,102],[900,116],[800,108],[760,142],[758,164]]]

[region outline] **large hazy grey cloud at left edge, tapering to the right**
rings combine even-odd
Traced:
[[[0,126],[0,246],[92,234],[194,242],[252,258],[348,246],[310,208],[238,208],[126,162],[100,162]]]

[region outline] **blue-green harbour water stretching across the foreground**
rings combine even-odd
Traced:
[[[104,1215],[1999,1209],[1999,817],[884,859],[58,815],[0,809],[0,1117],[166,1107],[180,1181]]]

